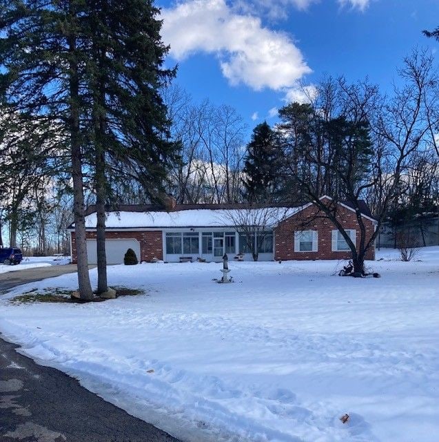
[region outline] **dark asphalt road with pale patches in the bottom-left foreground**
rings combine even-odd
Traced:
[[[0,339],[1,442],[178,442]]]

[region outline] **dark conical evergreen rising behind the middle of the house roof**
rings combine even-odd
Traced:
[[[278,144],[276,133],[267,122],[253,130],[247,144],[243,172],[244,197],[248,202],[269,202],[276,191]]]

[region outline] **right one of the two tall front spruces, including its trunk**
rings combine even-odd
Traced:
[[[98,292],[107,289],[105,202],[112,199],[110,181],[131,177],[157,200],[175,157],[159,94],[175,70],[162,68],[168,48],[161,41],[158,13],[151,1],[88,2],[89,26],[84,32],[90,30],[92,52],[87,83],[92,102]]]

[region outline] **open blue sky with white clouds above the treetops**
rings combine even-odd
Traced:
[[[366,75],[390,90],[396,68],[439,26],[439,0],[159,0],[169,64],[194,99],[234,106],[249,127],[267,118],[298,84],[323,74]],[[312,86],[310,86],[312,87]],[[253,118],[252,118],[253,117]]]

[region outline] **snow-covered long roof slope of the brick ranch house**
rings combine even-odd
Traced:
[[[187,209],[180,211],[119,211],[107,213],[106,229],[232,227],[241,224],[274,227],[300,211],[301,207],[263,209]],[[96,227],[96,213],[85,217],[85,227]]]

